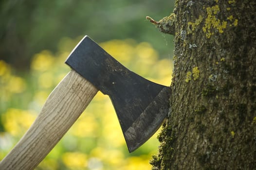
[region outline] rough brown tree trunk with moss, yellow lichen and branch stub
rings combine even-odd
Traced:
[[[256,170],[256,1],[176,0],[170,113],[153,170]]]

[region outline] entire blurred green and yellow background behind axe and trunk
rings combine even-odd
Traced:
[[[130,70],[170,85],[173,37],[145,17],[169,16],[174,0],[1,0],[0,160],[33,123],[89,35]],[[147,170],[157,135],[128,153],[108,96],[98,92],[37,170]]]

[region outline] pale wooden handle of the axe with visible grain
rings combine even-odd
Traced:
[[[37,119],[0,162],[0,170],[33,170],[85,110],[97,89],[71,70],[47,98]]]

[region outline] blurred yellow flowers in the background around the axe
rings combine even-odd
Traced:
[[[0,159],[23,136],[50,92],[69,72],[64,62],[80,39],[63,38],[55,54],[47,50],[35,54],[28,74],[17,76],[13,68],[0,60]],[[155,83],[170,85],[171,60],[160,59],[150,44],[126,39],[110,40],[100,46],[133,72]],[[149,160],[159,145],[156,136],[128,153],[110,99],[98,92],[37,170],[149,170]]]

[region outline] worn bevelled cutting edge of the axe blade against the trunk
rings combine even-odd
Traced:
[[[143,145],[160,128],[169,111],[170,88],[164,87],[124,133],[129,153]]]

